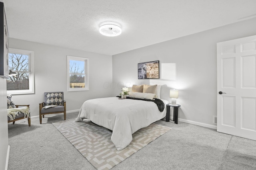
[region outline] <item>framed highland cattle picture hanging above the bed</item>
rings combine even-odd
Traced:
[[[159,61],[138,63],[138,79],[159,78]]]

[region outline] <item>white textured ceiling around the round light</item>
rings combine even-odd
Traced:
[[[11,38],[115,55],[256,17],[256,0],[6,0]],[[103,22],[122,34],[99,33]]]

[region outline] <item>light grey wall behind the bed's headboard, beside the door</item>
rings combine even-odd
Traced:
[[[132,84],[162,84],[161,97],[170,101],[168,90],[175,88],[181,121],[216,128],[216,43],[251,35],[256,35],[256,18],[114,55],[113,94]],[[138,80],[137,64],[156,60],[175,63],[176,80]]]

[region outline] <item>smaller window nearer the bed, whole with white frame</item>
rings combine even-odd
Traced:
[[[89,90],[89,59],[67,56],[68,92]]]

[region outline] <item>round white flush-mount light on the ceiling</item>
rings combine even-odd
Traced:
[[[122,33],[122,29],[118,25],[104,24],[100,26],[100,33],[108,37],[115,37]]]

